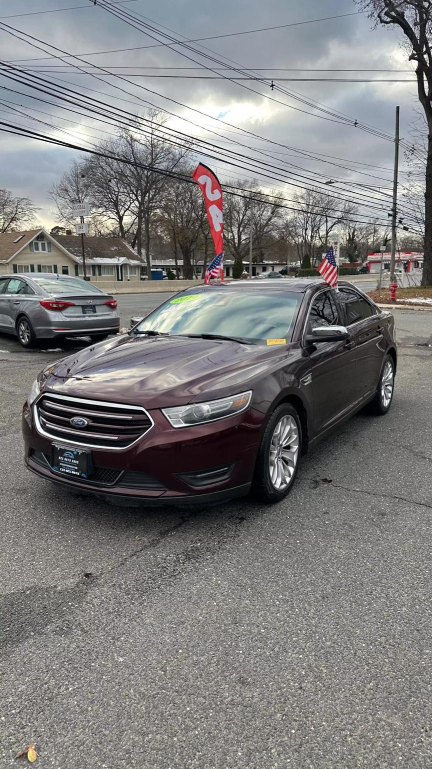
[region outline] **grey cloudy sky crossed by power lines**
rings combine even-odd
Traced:
[[[101,2],[106,5],[108,0]],[[26,77],[37,74],[57,85],[74,88],[82,95],[103,98],[111,105],[113,115],[118,108],[145,115],[146,104],[152,102],[178,115],[170,118],[168,125],[172,128],[188,135],[205,136],[208,141],[218,141],[220,147],[241,151],[250,158],[281,168],[278,172],[270,171],[270,175],[275,176],[272,181],[264,178],[262,171],[254,174],[250,163],[246,168],[230,168],[228,162],[220,158],[207,160],[222,181],[234,177],[248,181],[255,176],[266,188],[284,188],[287,195],[292,195],[293,187],[287,186],[284,180],[291,180],[291,185],[296,179],[301,184],[306,183],[305,178],[311,178],[316,184],[331,180],[336,182],[334,190],[339,188],[345,195],[356,192],[364,201],[368,199],[365,195],[379,196],[390,191],[392,142],[355,128],[353,122],[357,119],[385,135],[392,135],[394,109],[398,104],[400,134],[409,142],[416,105],[414,76],[409,72],[410,65],[397,32],[372,28],[371,21],[357,12],[353,0],[129,0],[118,8],[121,14],[133,15],[129,21],[140,28],[114,18],[90,0],[15,0],[13,4],[3,0],[0,2],[3,60],[28,68]],[[299,23],[331,16],[341,18]],[[146,34],[141,22],[157,28],[158,32],[147,28]],[[232,34],[268,27],[279,28]],[[175,45],[171,48],[157,45],[162,39],[161,31],[168,32],[167,28],[177,39],[214,39],[191,44],[195,52]],[[29,39],[28,42],[18,39],[25,36],[23,33],[38,38],[38,41],[32,40],[38,48],[32,47]],[[52,46],[117,72],[128,82],[95,70],[93,75],[100,79],[77,72],[71,63],[81,68],[85,65],[76,59],[58,62],[56,58],[47,58],[55,53],[62,55]],[[126,48],[133,50],[118,50]],[[190,58],[181,55],[181,50]],[[217,58],[218,63],[210,62],[202,54]],[[231,82],[226,76],[238,75],[238,72],[218,69],[214,75],[204,68],[221,64],[235,65],[248,73],[253,70],[261,78],[273,79],[275,88],[272,91],[267,83],[253,80]],[[365,70],[370,72],[361,72]],[[216,79],[198,79],[197,75]],[[385,78],[410,82],[307,82],[305,78]],[[91,145],[97,138],[106,136],[101,128],[114,131],[88,116],[74,115],[58,105],[42,102],[43,98],[56,101],[44,94],[43,86],[41,91],[32,91],[6,78],[5,73],[0,75],[0,86],[1,121],[25,125],[81,146],[85,141]],[[123,88],[123,92],[119,88]],[[305,105],[302,100],[310,104]],[[32,118],[48,122],[49,126]],[[192,125],[194,123],[198,126]],[[220,136],[215,137],[205,129],[218,131]],[[230,141],[233,139],[241,141],[246,148],[234,145]],[[269,144],[264,139],[275,143]],[[271,158],[265,158],[263,151],[270,153]],[[5,133],[0,134],[0,152],[0,186],[10,188],[15,195],[32,198],[41,208],[42,224],[55,224],[48,190],[77,153]],[[404,174],[403,153],[401,166]],[[296,172],[301,178],[294,176]],[[404,175],[401,178],[404,180]],[[363,185],[370,185],[371,189]],[[381,195],[380,199],[384,197]]]

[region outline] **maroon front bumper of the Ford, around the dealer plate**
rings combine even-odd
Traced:
[[[95,475],[72,480],[52,471],[50,457],[52,442],[73,443],[50,441],[39,434],[32,410],[25,404],[25,464],[72,493],[116,504],[206,504],[248,494],[264,431],[261,411],[249,408],[238,416],[181,429],[172,428],[157,409],[149,414],[155,425],[138,443],[121,451],[91,450]],[[227,467],[227,472],[214,472]],[[203,482],[202,474],[208,471],[208,481]]]

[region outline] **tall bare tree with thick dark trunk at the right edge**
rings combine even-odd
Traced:
[[[432,285],[432,2],[431,0],[357,0],[377,23],[404,32],[409,59],[416,64],[417,95],[427,122],[424,193],[424,268],[422,285]]]

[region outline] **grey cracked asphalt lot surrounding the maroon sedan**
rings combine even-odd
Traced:
[[[161,299],[118,297],[122,324]],[[389,414],[271,508],[115,508],[32,476],[20,411],[63,349],[0,335],[0,767],[30,742],[55,769],[432,764],[432,313],[395,317]]]

